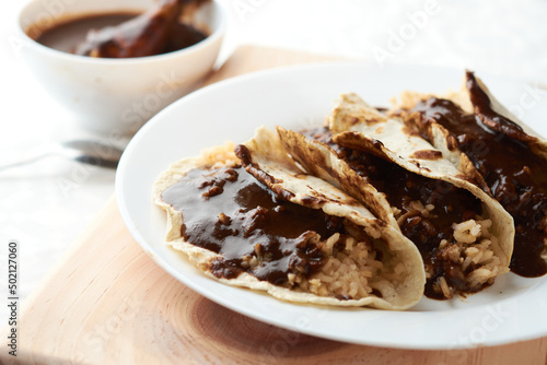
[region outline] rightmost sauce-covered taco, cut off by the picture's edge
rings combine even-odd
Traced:
[[[407,92],[393,114],[451,162],[463,156],[473,163],[486,190],[513,216],[511,270],[546,274],[547,142],[468,71],[462,91],[442,96]]]

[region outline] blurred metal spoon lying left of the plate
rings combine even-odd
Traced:
[[[1,163],[0,170],[33,163],[46,156],[58,155],[75,160],[85,164],[116,168],[123,151],[97,141],[66,141],[61,143],[46,144],[9,163]]]

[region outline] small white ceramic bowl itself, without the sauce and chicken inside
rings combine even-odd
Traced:
[[[59,19],[116,11],[143,11],[153,0],[49,0],[30,2],[19,15],[21,52],[36,79],[74,120],[103,133],[133,133],[166,105],[190,92],[211,71],[226,27],[218,1],[202,5],[196,21],[211,34],[200,43],[158,56],[101,59],[43,46],[25,31]]]

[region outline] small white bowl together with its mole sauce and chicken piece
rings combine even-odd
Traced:
[[[19,15],[25,62],[74,121],[132,134],[212,70],[226,26],[213,0],[34,0]]]

